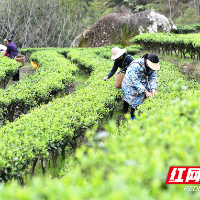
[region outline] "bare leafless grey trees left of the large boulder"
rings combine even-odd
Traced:
[[[80,0],[4,0],[0,35],[20,48],[70,46],[84,29],[84,15]]]

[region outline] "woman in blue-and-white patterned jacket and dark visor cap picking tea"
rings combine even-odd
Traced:
[[[145,54],[142,58],[136,59],[126,71],[122,82],[126,112],[131,106],[131,117],[135,117],[135,109],[149,98],[156,94],[157,74],[160,69],[159,58],[156,54]]]

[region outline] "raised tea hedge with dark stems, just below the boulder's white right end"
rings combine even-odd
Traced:
[[[188,53],[192,59],[200,59],[199,34],[166,34],[146,33],[130,40],[132,43],[143,45],[145,49],[184,56]]]

